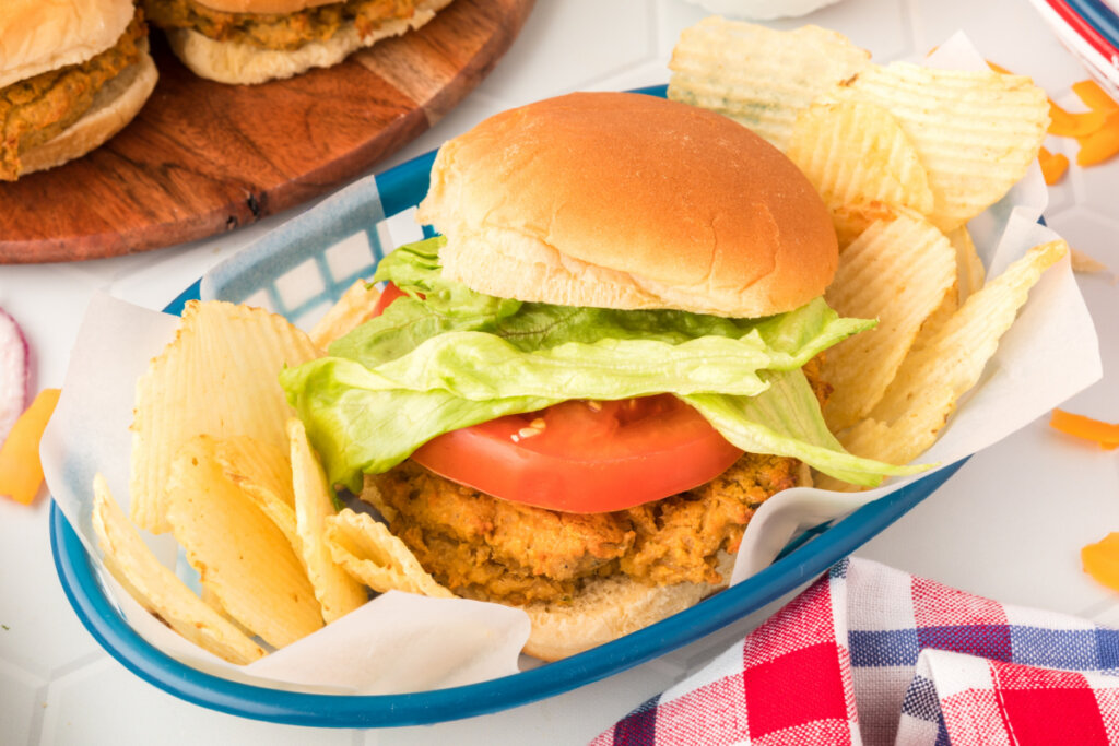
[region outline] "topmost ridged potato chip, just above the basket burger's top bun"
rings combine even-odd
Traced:
[[[797,113],[869,59],[817,26],[775,31],[711,17],[680,34],[668,97],[725,114],[783,150]]]

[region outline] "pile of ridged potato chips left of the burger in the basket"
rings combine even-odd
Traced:
[[[184,638],[233,663],[354,611],[367,588],[451,595],[382,523],[336,510],[278,379],[283,366],[320,355],[282,317],[188,304],[175,340],[137,385],[135,526],[105,480],[94,483],[93,523],[109,572]],[[137,526],[173,533],[200,595],[156,558]]]

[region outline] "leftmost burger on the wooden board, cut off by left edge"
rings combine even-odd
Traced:
[[[156,87],[131,0],[4,0],[0,7],[0,180],[101,145]]]

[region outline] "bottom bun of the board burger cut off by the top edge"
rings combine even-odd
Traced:
[[[347,21],[326,41],[309,41],[291,50],[263,49],[238,41],[215,41],[198,31],[182,28],[167,29],[167,38],[175,54],[195,75],[218,83],[254,85],[292,77],[312,67],[337,65],[363,47],[420,28],[450,1],[424,0],[416,3],[411,18],[386,20],[367,37],[357,32],[352,21]]]

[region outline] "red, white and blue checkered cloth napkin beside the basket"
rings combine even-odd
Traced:
[[[594,740],[1119,744],[1119,630],[848,559]]]

